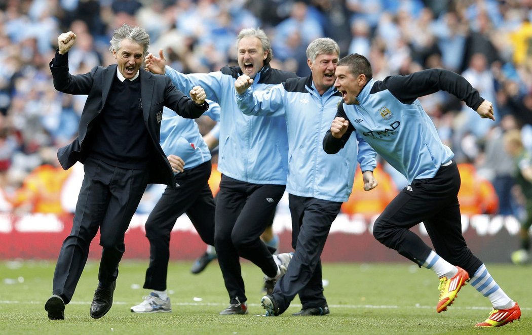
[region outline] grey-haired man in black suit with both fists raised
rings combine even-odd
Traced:
[[[63,169],[84,163],[85,178],[74,214],[72,231],[63,242],[55,267],[53,296],[45,309],[51,320],[63,320],[65,304],[87,261],[90,241],[100,230],[102,258],[90,316],[102,317],[113,303],[118,263],[124,253],[124,233],[148,183],[176,187],[170,163],[159,145],[163,106],[184,118],[198,118],[209,108],[200,86],[190,97],[168,77],[139,71],[149,47],[142,28],[124,24],[114,31],[110,50],[117,64],[96,66],[72,76],[68,51],[76,40],[72,31],[57,38],[59,49],[50,63],[55,89],[88,95],[78,138],[62,147],[57,157]]]

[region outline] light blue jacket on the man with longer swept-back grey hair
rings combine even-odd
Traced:
[[[178,89],[188,92],[200,85],[209,100],[220,104],[218,171],[239,181],[286,185],[286,122],[282,117],[254,118],[240,112],[235,98],[235,80],[241,75],[238,66],[224,66],[218,72],[192,74],[182,74],[166,67],[166,76]],[[295,77],[292,72],[272,69],[265,64],[256,74],[253,87],[264,90]]]

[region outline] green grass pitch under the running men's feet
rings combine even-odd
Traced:
[[[98,263],[90,261],[66,305],[65,320],[48,320],[44,303],[51,295],[54,262],[0,262],[0,334],[532,334],[532,267],[488,264],[498,284],[521,306],[521,321],[496,329],[476,329],[491,310],[489,300],[465,286],[447,312],[436,313],[435,274],[411,263],[325,263],[325,296],[331,314],[294,317],[296,297],[278,317],[262,317],[262,274],[242,262],[249,315],[223,316],[229,298],[217,262],[198,275],[191,262],[171,262],[168,290],[171,313],[135,314],[142,301],[146,261],[124,260],[111,311],[89,316]]]

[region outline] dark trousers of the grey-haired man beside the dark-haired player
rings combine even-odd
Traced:
[[[295,252],[288,271],[273,289],[279,314],[286,311],[297,294],[303,309],[327,304],[323,296],[320,256],[342,203],[289,194],[288,205],[292,215],[292,247]]]

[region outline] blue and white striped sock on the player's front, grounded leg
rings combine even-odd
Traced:
[[[469,283],[492,302],[494,309],[506,309],[514,305],[513,300],[498,286],[484,264],[478,268]]]

